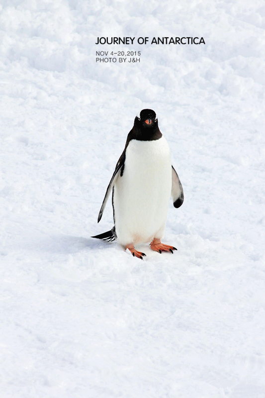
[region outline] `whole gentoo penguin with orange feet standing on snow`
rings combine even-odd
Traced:
[[[133,256],[139,243],[151,249],[177,250],[161,243],[166,229],[170,196],[175,207],[183,203],[183,189],[171,164],[170,147],[160,132],[157,115],[152,109],[141,110],[134,119],[126,145],[107,187],[97,222],[100,221],[112,190],[114,227],[92,238],[116,240]]]

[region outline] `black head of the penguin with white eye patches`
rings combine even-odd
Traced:
[[[141,110],[134,119],[134,129],[138,139],[150,140],[158,130],[156,112],[152,109]]]

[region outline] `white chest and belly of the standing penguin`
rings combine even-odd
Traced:
[[[172,188],[171,152],[162,136],[130,141],[125,167],[114,187],[117,236],[147,241],[166,226]],[[129,237],[126,238],[129,240]],[[119,239],[121,240],[121,239]]]

